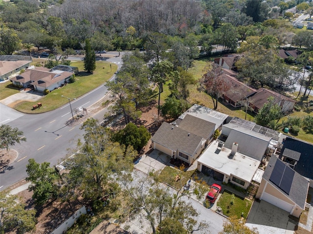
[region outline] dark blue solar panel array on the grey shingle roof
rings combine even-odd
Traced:
[[[292,170],[285,163],[277,159],[269,180],[289,195],[293,176],[294,170]]]

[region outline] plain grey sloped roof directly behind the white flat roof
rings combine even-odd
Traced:
[[[232,148],[234,142],[238,143],[237,151],[245,154],[253,159],[261,161],[266,149],[268,148],[269,137],[253,132],[251,134],[232,129],[225,141],[224,146],[228,149]]]

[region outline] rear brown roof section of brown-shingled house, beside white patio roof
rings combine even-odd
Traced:
[[[207,140],[214,132],[215,124],[187,114],[185,118],[179,123],[179,128],[182,128],[188,132],[192,132]]]

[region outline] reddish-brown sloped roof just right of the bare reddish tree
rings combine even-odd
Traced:
[[[232,77],[227,74],[221,75],[224,80],[226,80],[230,86],[229,90],[224,92],[228,98],[234,102],[243,100],[245,97],[252,95],[256,92],[255,89],[250,88],[248,85],[243,82],[238,81],[235,77]]]

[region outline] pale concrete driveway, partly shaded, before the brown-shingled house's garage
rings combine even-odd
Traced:
[[[163,170],[170,160],[169,155],[154,149],[149,155],[142,155],[134,168],[148,174],[150,171]]]

